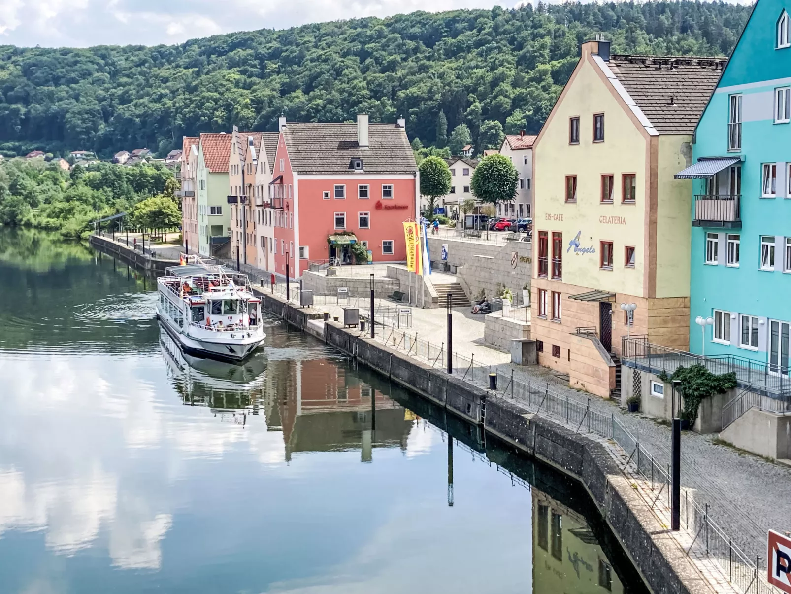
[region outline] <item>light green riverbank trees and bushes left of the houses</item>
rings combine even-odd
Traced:
[[[101,217],[134,212],[139,222],[151,227],[149,219],[160,216],[153,210],[164,209],[168,222],[179,219],[176,226],[178,188],[170,170],[159,163],[127,167],[97,162],[66,171],[55,162],[15,158],[0,166],[0,225],[57,230],[63,237],[81,238]],[[141,206],[135,208],[137,204]]]

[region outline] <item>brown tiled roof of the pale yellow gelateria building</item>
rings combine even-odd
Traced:
[[[611,55],[605,64],[660,134],[692,134],[725,58]]]

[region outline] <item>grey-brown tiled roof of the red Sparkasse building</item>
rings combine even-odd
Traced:
[[[352,158],[361,158],[365,173],[414,173],[418,166],[403,128],[369,124],[368,147],[357,142],[357,124],[291,123],[283,128],[291,166],[305,175],[351,173]]]

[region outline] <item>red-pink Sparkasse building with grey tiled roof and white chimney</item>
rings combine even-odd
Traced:
[[[373,262],[403,262],[403,222],[415,219],[418,167],[404,120],[397,124],[286,123],[267,192],[274,272],[301,276],[308,261],[352,263],[359,242]],[[270,209],[267,209],[267,211]]]

